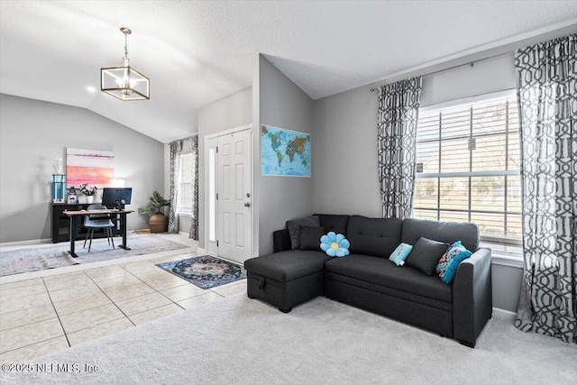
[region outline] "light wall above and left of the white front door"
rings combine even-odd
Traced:
[[[205,138],[252,123],[252,87],[198,108],[198,247],[205,244]],[[188,228],[181,231],[188,231]]]

